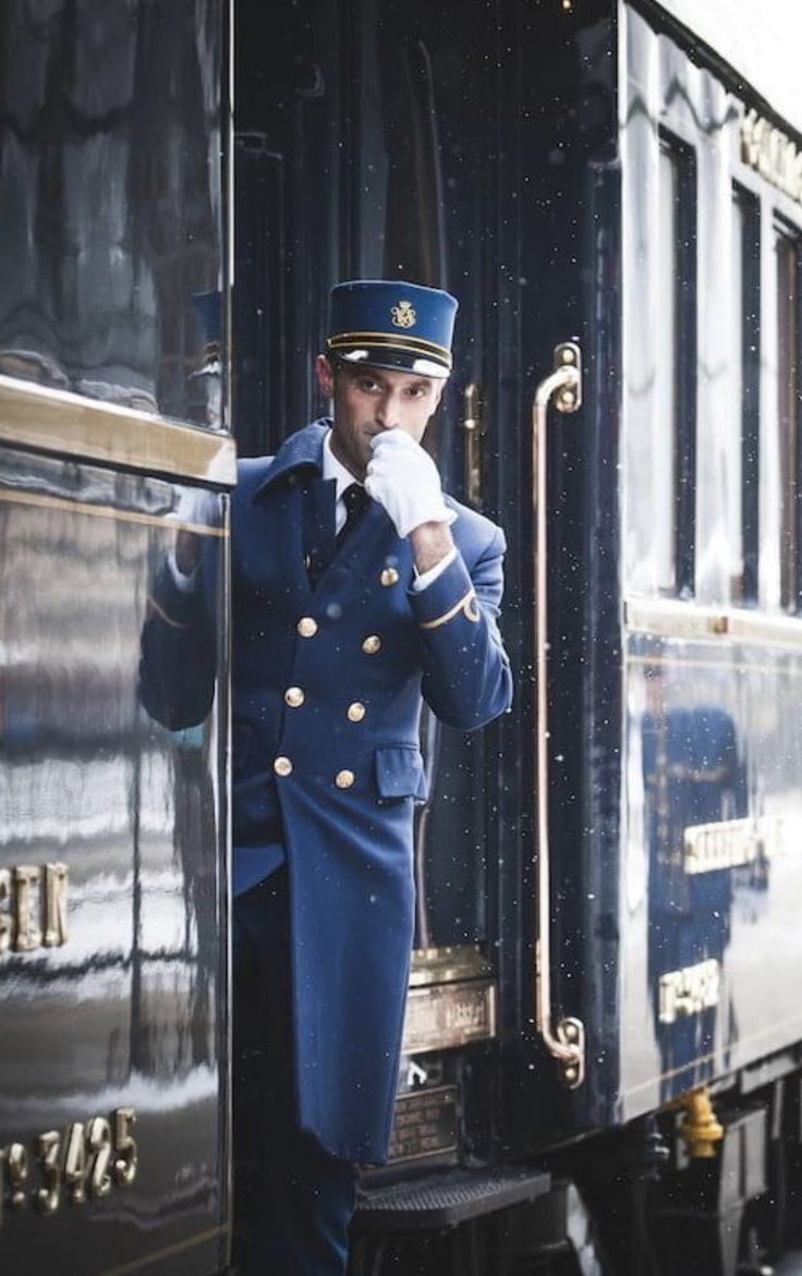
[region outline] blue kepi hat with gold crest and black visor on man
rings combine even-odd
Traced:
[[[422,376],[448,376],[456,299],[395,279],[352,279],[332,288],[328,353]]]

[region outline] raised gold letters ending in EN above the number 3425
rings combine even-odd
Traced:
[[[66,943],[66,864],[0,869],[0,957]]]

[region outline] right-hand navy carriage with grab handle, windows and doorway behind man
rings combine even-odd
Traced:
[[[358,1225],[381,1253],[411,1202],[464,1217],[455,1184],[478,1217],[514,1162],[557,1185],[546,1205],[543,1179],[518,1182],[510,1262],[562,1210],[566,1247],[595,1228],[611,1270],[645,1270],[659,1236],[666,1272],[729,1271],[769,1189],[776,1244],[798,1119],[799,119],[765,52],[783,15],[293,15],[278,38],[238,15],[235,323],[277,343],[235,364],[240,445],[311,413],[306,334],[335,278],[455,291],[434,447],[507,530],[518,671],[481,740],[425,725],[395,1161]],[[629,1180],[666,1157],[644,1205]],[[627,1230],[653,1236],[629,1259]]]

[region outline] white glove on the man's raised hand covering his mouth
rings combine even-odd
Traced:
[[[365,490],[384,505],[399,536],[421,523],[453,523],[456,518],[442,499],[437,466],[404,430],[384,430],[371,439]]]

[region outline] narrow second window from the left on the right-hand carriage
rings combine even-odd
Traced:
[[[757,596],[760,214],[755,199],[740,188],[733,190],[732,212],[729,597],[736,604],[751,604]]]

